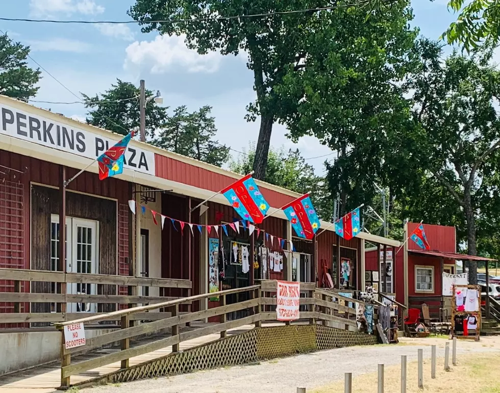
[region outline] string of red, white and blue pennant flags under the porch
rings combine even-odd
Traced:
[[[165,216],[164,214],[158,213],[154,211],[151,208],[148,208],[144,205],[139,205],[135,200],[131,199],[129,200],[129,208],[130,211],[135,215],[137,214],[137,206],[139,206],[140,213],[145,216],[146,213],[149,211],[151,213],[151,216],[153,218],[153,222],[155,225],[158,225],[158,221],[160,221],[161,229],[165,227],[165,221],[170,221],[173,228],[177,231],[180,230],[181,234],[184,233],[184,228],[189,227],[191,234],[194,236],[194,229],[197,229],[199,233],[203,233],[203,229],[207,231],[207,234],[210,235],[213,230],[215,230],[215,233],[219,235],[219,229],[224,231],[226,236],[229,236],[228,232],[228,227],[231,228],[234,232],[237,234],[240,234],[241,232],[245,231],[248,229],[248,234],[252,235],[254,232],[257,232],[257,239],[260,237],[260,233],[264,233],[265,240],[270,241],[271,245],[274,245],[274,239],[278,240],[278,245],[281,246],[282,249],[285,249],[286,243],[290,244],[290,250],[295,251],[295,246],[293,245],[293,241],[287,240],[280,238],[278,236],[274,236],[272,234],[269,234],[265,232],[264,230],[257,228],[255,225],[250,223],[248,220],[238,220],[234,221],[228,224],[218,224],[218,225],[205,225],[205,224],[194,224],[191,222],[186,222],[186,221],[181,221],[178,219],[174,219],[168,216]],[[241,232],[240,232],[241,231]]]

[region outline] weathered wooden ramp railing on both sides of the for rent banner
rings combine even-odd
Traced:
[[[344,298],[338,294],[314,288],[314,284],[301,284],[301,292],[306,297],[301,297],[301,306],[307,307],[306,311],[301,311],[301,321],[308,320],[309,323],[315,324],[317,321],[322,321],[327,324],[328,321],[333,321],[341,328],[346,329],[356,328],[356,309],[339,304],[338,300],[356,303],[356,299]],[[220,337],[226,337],[229,329],[234,329],[244,325],[254,324],[255,327],[261,326],[262,321],[276,320],[276,311],[272,312],[266,307],[276,305],[276,297],[272,294],[276,293],[276,281],[263,281],[259,285],[244,287],[241,289],[232,289],[227,291],[219,291],[215,293],[195,295],[187,298],[170,300],[157,304],[139,306],[124,310],[109,312],[104,315],[94,315],[86,318],[81,318],[73,321],[55,323],[54,325],[61,330],[63,335],[61,348],[61,386],[70,386],[70,377],[80,373],[87,372],[99,368],[101,366],[121,362],[121,368],[129,366],[129,360],[132,357],[153,352],[165,347],[172,347],[172,352],[179,351],[179,345],[186,340],[197,337],[202,337],[208,334],[220,333]],[[233,294],[244,294],[248,300],[243,300],[233,304],[227,304],[227,297]],[[193,311],[181,315],[179,306],[184,303],[195,304],[205,300],[206,298],[219,297],[221,305],[218,307]],[[330,299],[330,300],[329,300]],[[360,302],[362,303],[362,302]],[[130,321],[135,315],[141,315],[153,309],[164,308],[170,311],[170,317],[154,322],[143,323],[138,326],[131,326]],[[376,309],[376,307],[374,307]],[[234,311],[247,311],[247,316],[232,321],[227,320],[227,315]],[[340,313],[339,313],[340,312]],[[211,317],[219,317],[219,322],[214,325],[203,326],[195,330],[181,332],[182,325],[194,321],[204,321]],[[342,317],[341,317],[342,316]],[[137,318],[135,318],[137,319]],[[100,336],[92,337],[86,340],[84,347],[73,349],[64,348],[64,326],[70,324],[83,323],[84,325],[103,321],[103,320],[120,320],[121,328]],[[375,316],[374,316],[375,320]],[[158,340],[152,343],[130,346],[130,340],[143,336],[145,334],[154,334],[170,328],[171,335],[166,338],[159,337]],[[88,360],[83,360],[77,363],[71,363],[71,356],[89,351],[92,349],[101,348],[105,345],[120,342],[120,351],[104,354]]]

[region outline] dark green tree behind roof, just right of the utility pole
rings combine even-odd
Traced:
[[[229,147],[214,140],[217,133],[212,107],[188,113],[181,106],[168,117],[153,144],[208,164],[222,166],[229,159]]]

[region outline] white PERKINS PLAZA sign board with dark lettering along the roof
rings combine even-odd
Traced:
[[[0,103],[0,134],[92,160],[118,142],[81,128],[20,111],[3,103]],[[155,175],[155,153],[129,144],[124,157],[125,168]]]

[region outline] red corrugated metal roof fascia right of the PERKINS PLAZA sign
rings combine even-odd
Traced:
[[[163,179],[178,181],[182,184],[217,192],[236,181],[234,177],[209,171],[155,153],[156,175]],[[268,203],[280,207],[294,198],[286,194],[259,187]]]

